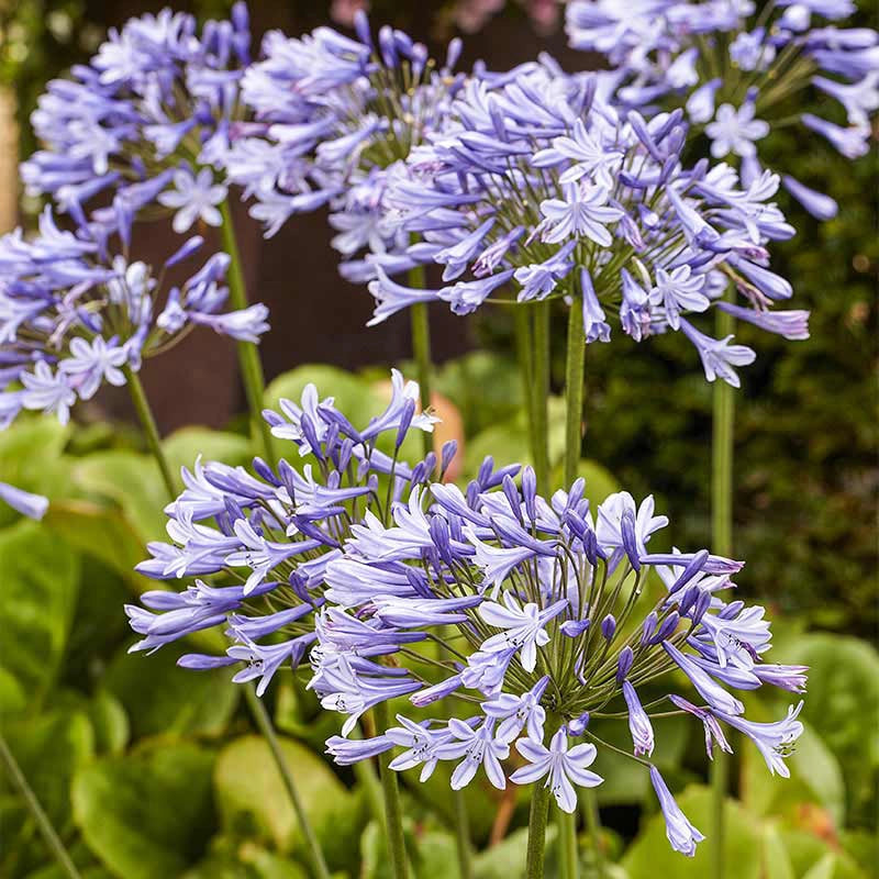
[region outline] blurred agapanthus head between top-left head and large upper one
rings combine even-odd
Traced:
[[[242,84],[254,121],[235,130],[225,160],[268,235],[329,203],[344,257],[400,245],[380,223],[386,169],[441,125],[460,84],[452,74],[459,41],[437,65],[402,31],[382,26],[372,36],[363,11],[355,29],[356,37],[325,26],[298,38],[266,35]]]

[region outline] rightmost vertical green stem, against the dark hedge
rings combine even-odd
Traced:
[[[733,333],[735,321],[732,314],[716,310],[719,338]],[[714,382],[714,413],[711,446],[711,546],[722,556],[733,552],[733,439],[735,426],[734,389],[725,381]],[[728,758],[722,752],[715,754],[711,766],[712,819],[711,852],[713,876],[723,879],[724,815],[723,806],[728,787]]]

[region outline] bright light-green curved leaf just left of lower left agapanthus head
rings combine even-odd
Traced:
[[[81,490],[115,502],[144,544],[165,537],[163,509],[168,490],[151,457],[136,452],[97,452],[78,459],[70,472]]]

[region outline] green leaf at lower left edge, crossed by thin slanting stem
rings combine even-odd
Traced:
[[[88,717],[81,711],[53,710],[4,724],[3,734],[46,814],[64,832],[70,820],[70,781],[94,755]]]

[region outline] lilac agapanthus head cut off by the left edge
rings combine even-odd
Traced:
[[[124,385],[126,368],[136,372],[193,326],[253,342],[268,329],[265,305],[224,311],[226,254],[170,286],[165,269],[196,254],[201,238],[154,268],[129,257],[105,215],[68,231],[46,208],[35,236],[0,238],[0,429],[23,409],[66,423],[77,399]]]

